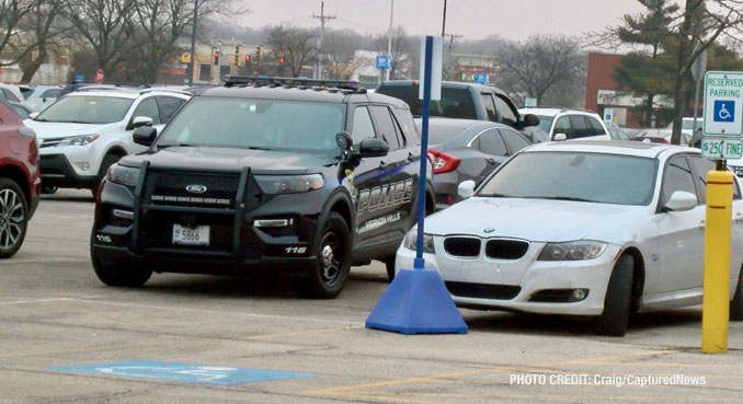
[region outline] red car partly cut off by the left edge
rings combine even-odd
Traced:
[[[36,134],[0,100],[0,258],[21,249],[41,191]]]

